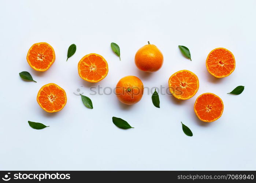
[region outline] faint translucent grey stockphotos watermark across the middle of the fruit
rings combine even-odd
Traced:
[[[73,92],[74,95],[80,96],[80,94],[84,94],[83,88],[86,88],[84,86],[80,86],[76,89],[76,91]],[[89,95],[123,95],[123,94],[130,94],[130,91],[132,90],[132,95],[140,95],[142,92],[143,94],[152,95],[155,90],[159,95],[182,95],[182,86],[181,87],[165,87],[163,85],[160,85],[160,87],[144,87],[144,90],[141,91],[142,87],[102,87],[100,85],[97,86],[91,86],[89,87]],[[87,90],[87,88],[86,88]],[[116,92],[118,91],[118,92]],[[88,94],[88,93],[87,93]]]

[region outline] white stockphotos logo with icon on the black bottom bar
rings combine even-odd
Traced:
[[[15,173],[13,177],[11,177],[11,173],[7,173],[2,178],[4,181],[9,181],[11,179],[14,180],[64,180],[70,179],[69,173]]]

